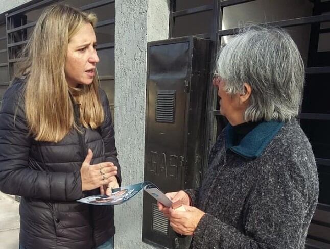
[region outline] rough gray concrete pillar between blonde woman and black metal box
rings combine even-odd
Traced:
[[[115,138],[122,185],[144,177],[147,42],[168,38],[168,0],[116,0]],[[141,241],[142,193],[115,207],[115,247],[152,248]]]

